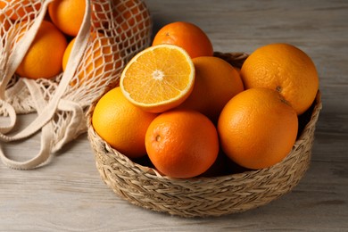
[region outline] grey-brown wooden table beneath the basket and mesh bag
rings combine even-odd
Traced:
[[[251,53],[286,42],[317,65],[323,110],[311,168],[294,190],[261,208],[220,218],[182,219],[121,200],[99,177],[87,136],[50,165],[11,170],[0,163],[0,231],[348,231],[348,2],[147,0],[154,30],[191,21],[216,51]],[[6,145],[35,153],[38,137]]]

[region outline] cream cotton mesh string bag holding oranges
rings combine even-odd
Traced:
[[[0,128],[1,144],[41,133],[40,150],[28,161],[13,160],[1,149],[2,162],[13,169],[45,165],[63,145],[86,132],[88,107],[117,83],[129,59],[150,45],[152,21],[144,1],[86,0],[65,70],[52,79],[20,77],[15,71],[53,1],[0,0],[0,114],[9,119]],[[13,133],[17,115],[30,112],[37,117]]]

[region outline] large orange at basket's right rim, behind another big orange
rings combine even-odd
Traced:
[[[319,88],[318,72],[311,58],[299,48],[287,44],[256,49],[245,60],[241,76],[245,88],[277,90],[298,115],[308,110]]]

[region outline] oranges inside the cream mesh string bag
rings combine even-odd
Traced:
[[[1,15],[0,21],[5,26],[2,33],[7,32],[10,34],[9,37],[16,37],[15,43],[18,43],[29,29],[28,22],[33,21],[41,7],[40,1],[1,0],[0,9],[4,15]],[[111,7],[112,9],[109,9]],[[138,18],[129,14],[128,7]],[[85,9],[86,0],[54,0],[48,4],[46,17],[16,73],[20,77],[29,79],[52,79],[65,70],[75,37],[83,23]],[[111,13],[114,14],[112,17],[107,15]],[[6,20],[5,15],[6,19],[10,20]],[[122,41],[119,38],[116,41],[116,38],[107,35],[107,31],[103,30],[103,27],[107,27],[106,24],[110,23],[106,16],[115,19],[115,25],[119,25],[117,29],[120,37],[138,30],[136,25],[138,20],[149,19],[145,4],[139,4],[135,0],[111,2],[102,0],[91,4],[92,27],[100,30],[97,33],[91,32],[90,42],[93,46],[89,47],[85,54],[87,67],[84,67],[82,76],[79,76],[81,81],[98,76],[101,72],[110,72],[115,66],[120,67]],[[145,27],[150,23],[149,19],[139,27]],[[134,28],[129,29],[129,27]],[[117,61],[119,63],[112,63]]]

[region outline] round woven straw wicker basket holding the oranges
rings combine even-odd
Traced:
[[[215,53],[235,66],[246,54]],[[247,211],[285,195],[296,186],[311,160],[314,130],[321,109],[320,93],[311,109],[300,117],[300,133],[283,162],[263,170],[248,170],[211,178],[174,179],[130,161],[99,137],[88,112],[88,139],[96,168],[107,186],[129,203],[182,217],[220,216]]]

